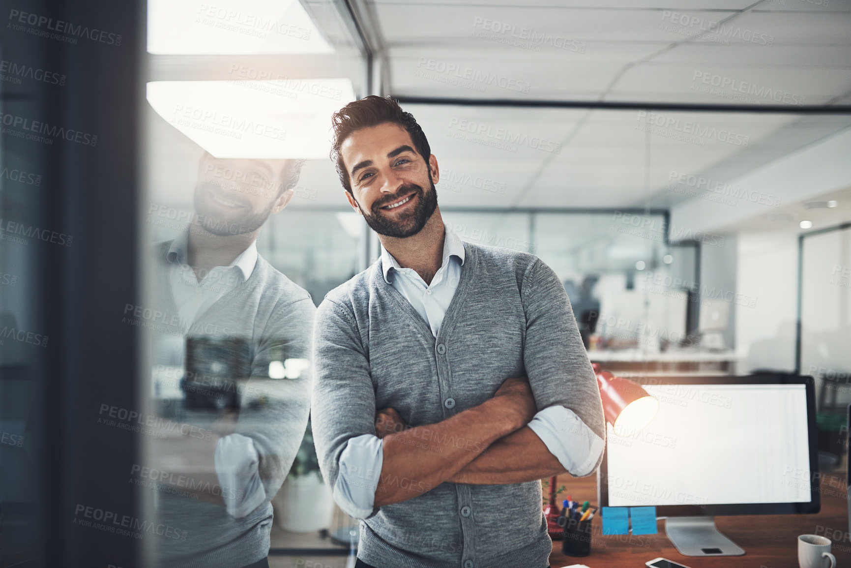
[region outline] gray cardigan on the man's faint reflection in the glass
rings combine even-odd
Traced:
[[[184,341],[184,335],[248,339],[251,379],[243,393],[248,393],[244,398],[260,398],[260,404],[240,409],[236,432],[251,438],[260,455],[260,480],[266,501],[247,516],[234,519],[223,504],[170,491],[158,492],[156,515],[148,520],[185,531],[186,540],[159,538],[155,565],[180,568],[249,565],[268,554],[270,500],[293,464],[310,411],[309,372],[303,372],[298,379],[274,380],[269,378],[269,362],[311,356],[316,307],[306,290],[258,256],[250,278],[201,313],[187,333],[186,322],[181,327],[176,316],[177,307],[168,281],[166,252],[170,244],[170,241],[157,244],[156,249],[157,286],[151,308],[159,315],[148,320],[140,318],[139,322],[155,331],[151,362],[182,364],[174,360],[169,347],[174,341]],[[206,422],[197,425],[209,426]]]

